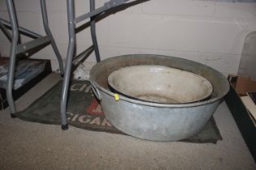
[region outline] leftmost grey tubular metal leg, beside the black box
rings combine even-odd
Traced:
[[[17,43],[19,39],[19,32],[18,32],[18,23],[15,14],[15,8],[13,0],[7,0],[7,9],[11,20],[11,27],[12,27],[12,40],[11,40],[11,51],[10,51],[10,63],[9,63],[9,71],[8,71],[8,79],[7,79],[7,101],[9,104],[11,117],[16,117],[16,107],[15,102],[12,96],[12,87],[13,81],[15,76],[15,57],[16,57],[16,49]]]

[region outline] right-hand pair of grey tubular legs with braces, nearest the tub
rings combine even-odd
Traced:
[[[97,15],[101,15],[107,10],[115,6],[119,6],[124,4],[124,2],[128,2],[129,0],[111,0],[106,2],[102,7],[95,9],[95,0],[90,0],[90,11],[85,15],[80,15],[79,17],[75,17],[74,10],[74,0],[67,0],[67,23],[68,23],[68,35],[69,42],[67,48],[67,58],[66,58],[66,66],[65,73],[63,79],[63,88],[62,88],[62,96],[61,96],[61,104],[60,104],[60,113],[61,113],[61,125],[62,130],[68,129],[67,123],[67,95],[68,95],[68,87],[70,81],[70,75],[72,71],[72,64],[77,64],[77,59],[83,60],[81,58],[86,58],[90,53],[94,50],[97,62],[101,61],[100,53],[98,50],[98,42],[96,37],[96,26],[95,26],[95,17]],[[80,53],[77,57],[75,56],[75,47],[76,47],[76,23],[80,23],[85,19],[90,19],[90,31],[93,40],[93,45],[89,47],[89,49],[85,49],[83,53]],[[74,58],[74,61],[73,61]]]

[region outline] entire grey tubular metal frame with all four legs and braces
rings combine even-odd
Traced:
[[[2,32],[7,36],[7,39],[11,41],[11,50],[10,50],[10,63],[9,63],[9,71],[7,78],[7,101],[9,104],[9,108],[11,111],[11,117],[16,117],[16,108],[15,102],[12,96],[13,89],[13,81],[15,76],[15,61],[17,54],[23,53],[25,56],[28,56],[31,53],[28,53],[28,50],[34,49],[40,45],[52,45],[54,49],[54,53],[59,61],[59,70],[61,75],[63,76],[63,88],[61,94],[61,104],[60,104],[60,114],[61,114],[61,126],[62,130],[68,129],[67,123],[67,95],[68,95],[68,87],[70,81],[70,75],[72,72],[72,66],[77,66],[81,61],[84,61],[86,57],[89,57],[89,54],[94,51],[97,62],[101,61],[100,53],[98,50],[98,41],[96,36],[96,21],[95,17],[97,15],[102,15],[107,10],[115,6],[120,6],[124,4],[124,2],[128,2],[129,0],[110,0],[106,2],[102,7],[95,9],[95,0],[90,0],[90,11],[85,15],[80,15],[75,18],[75,10],[74,10],[74,0],[67,0],[67,22],[68,22],[68,48],[67,48],[67,57],[66,57],[66,65],[65,70],[63,70],[63,61],[60,56],[57,45],[54,41],[54,37],[52,36],[49,28],[47,11],[46,11],[46,0],[40,0],[41,2],[41,14],[44,23],[44,28],[46,32],[46,36],[41,36],[35,32],[32,32],[26,28],[19,27],[16,11],[13,0],[6,0],[8,14],[10,17],[10,23],[7,20],[0,19],[0,28]],[[89,19],[90,23],[90,31],[91,37],[93,40],[93,45],[91,45],[88,49],[85,49],[84,52],[75,56],[75,48],[76,48],[76,23],[80,23],[81,21]],[[8,32],[7,29],[12,30],[12,34]],[[29,36],[34,40],[31,40],[27,43],[20,43],[20,33],[25,36]]]

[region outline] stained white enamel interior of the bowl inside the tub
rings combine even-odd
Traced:
[[[201,75],[168,66],[128,66],[108,77],[115,91],[139,100],[165,104],[191,103],[208,98],[211,83]]]

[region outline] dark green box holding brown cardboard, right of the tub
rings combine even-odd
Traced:
[[[241,96],[245,96],[247,91],[254,91],[255,81],[249,77],[237,75],[229,75],[228,80],[231,86],[230,91],[225,96],[226,104],[256,163],[256,124],[254,117],[251,116],[241,99]]]

